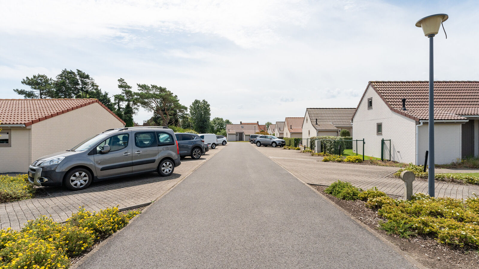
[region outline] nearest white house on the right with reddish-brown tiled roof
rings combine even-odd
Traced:
[[[353,139],[365,155],[423,164],[429,144],[429,82],[370,81],[353,116]],[[435,163],[479,155],[479,81],[434,82]]]

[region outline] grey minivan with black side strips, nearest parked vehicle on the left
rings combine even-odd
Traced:
[[[180,164],[178,142],[168,127],[116,128],[39,158],[28,169],[28,181],[83,190],[92,181],[144,172],[170,176]]]

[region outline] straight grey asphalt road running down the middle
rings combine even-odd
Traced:
[[[80,268],[414,267],[254,147],[232,142]]]

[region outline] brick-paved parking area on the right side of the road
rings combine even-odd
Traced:
[[[313,157],[301,153],[299,150],[251,146],[309,184],[331,185],[334,181],[341,180],[351,182],[354,186],[363,190],[377,187],[380,191],[388,194],[404,194],[404,182],[398,178],[388,177],[389,174],[394,173],[399,168],[321,162],[321,157]],[[464,172],[463,170],[460,171]],[[477,170],[468,171],[477,172]],[[436,197],[449,196],[465,199],[468,196],[473,196],[473,192],[479,193],[479,186],[476,185],[447,184],[438,181],[436,181],[435,185]],[[418,179],[414,180],[413,190],[414,192],[428,193],[428,182]]]

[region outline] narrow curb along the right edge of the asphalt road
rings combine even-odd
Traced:
[[[259,150],[258,150],[259,151]],[[262,153],[261,151],[259,151],[260,153]],[[420,262],[418,262],[416,259],[412,258],[409,254],[407,254],[405,251],[401,250],[399,247],[397,247],[396,245],[394,245],[393,243],[391,243],[388,239],[386,239],[383,235],[379,234],[378,232],[376,232],[374,229],[371,229],[369,226],[367,226],[366,224],[364,224],[363,222],[361,222],[360,220],[358,220],[357,218],[355,218],[352,214],[350,214],[349,212],[347,212],[346,210],[344,210],[341,206],[337,205],[335,202],[332,202],[328,197],[324,196],[322,193],[320,193],[319,191],[315,190],[313,187],[309,186],[308,183],[304,182],[302,179],[298,178],[296,175],[294,175],[293,173],[291,173],[288,169],[286,169],[284,166],[282,166],[281,164],[277,163],[276,161],[274,161],[274,159],[268,157],[266,154],[262,153],[262,155],[266,156],[268,159],[272,160],[274,163],[276,163],[277,165],[279,165],[280,167],[282,167],[283,169],[285,169],[289,174],[291,174],[293,177],[295,177],[297,180],[299,180],[301,183],[303,183],[304,185],[308,186],[308,188],[314,192],[316,192],[319,196],[321,196],[322,198],[324,198],[326,201],[328,201],[329,203],[331,203],[331,205],[333,205],[335,208],[337,208],[339,211],[341,211],[342,213],[344,213],[345,215],[349,216],[353,221],[355,221],[357,224],[361,225],[363,228],[365,228],[368,232],[370,232],[371,234],[373,234],[374,236],[376,236],[379,240],[383,241],[386,245],[388,245],[389,247],[391,247],[394,251],[396,251],[399,255],[401,255],[403,258],[407,259],[409,262],[411,262],[411,264],[419,269],[428,269],[427,267],[425,267],[424,265],[422,265]],[[319,184],[311,184],[311,185],[317,185],[317,186],[329,186],[329,185],[319,185]]]

